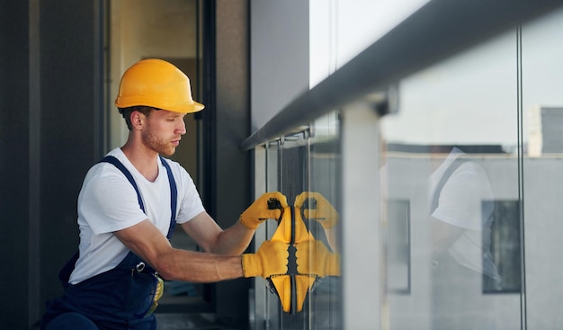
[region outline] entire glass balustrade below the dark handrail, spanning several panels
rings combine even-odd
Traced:
[[[562,39],[558,10],[400,79],[396,113],[358,100],[257,147],[257,192],[301,209],[318,192],[338,214],[328,228],[293,217],[342,272],[316,278],[299,312],[264,290],[266,327],[338,329],[362,313],[382,329],[557,328]]]

